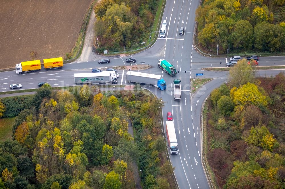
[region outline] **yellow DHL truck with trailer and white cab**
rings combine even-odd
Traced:
[[[49,70],[50,68],[61,69],[62,66],[63,66],[62,57],[44,59],[44,68],[46,68],[46,70]],[[40,60],[32,60],[16,64],[16,74],[22,74],[26,72],[36,72],[37,70],[40,69],[41,69]]]

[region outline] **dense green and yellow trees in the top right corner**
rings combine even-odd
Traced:
[[[198,41],[212,52],[284,52],[283,0],[207,0],[196,10]],[[281,20],[280,20],[281,19]],[[275,21],[277,20],[277,22]]]

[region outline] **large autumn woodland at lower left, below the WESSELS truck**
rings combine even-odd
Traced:
[[[144,188],[173,188],[159,106],[143,92],[43,85],[16,117],[13,140],[0,142],[0,188],[135,188],[134,163]]]

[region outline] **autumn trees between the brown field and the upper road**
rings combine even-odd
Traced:
[[[136,48],[148,38],[157,9],[156,0],[102,0],[95,5],[95,33],[101,36],[97,51]],[[103,47],[102,47],[103,46]]]

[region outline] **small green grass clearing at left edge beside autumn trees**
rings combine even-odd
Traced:
[[[15,117],[0,119],[0,140],[12,138],[12,128]]]

